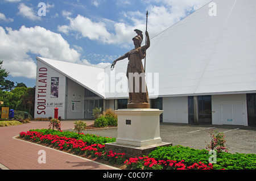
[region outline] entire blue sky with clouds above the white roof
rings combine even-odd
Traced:
[[[158,35],[210,0],[1,0],[6,78],[34,87],[36,56],[105,68],[134,48],[135,29]]]

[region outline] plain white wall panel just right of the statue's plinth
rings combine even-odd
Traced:
[[[163,98],[163,122],[188,123],[188,97]]]

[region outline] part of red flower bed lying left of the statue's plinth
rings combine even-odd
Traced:
[[[105,152],[105,143],[114,142],[115,138],[95,136],[93,134],[52,131],[51,129],[36,129],[20,132],[20,138],[54,146],[78,155],[87,155],[99,159],[104,158],[112,164],[125,161],[124,153]]]

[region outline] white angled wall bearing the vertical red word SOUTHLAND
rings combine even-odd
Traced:
[[[36,90],[35,90],[35,118],[54,117],[54,108],[59,108],[58,116],[62,118],[65,115],[65,84],[64,75],[53,70],[43,62],[38,61],[36,72]],[[51,78],[59,77],[59,96],[51,98]]]

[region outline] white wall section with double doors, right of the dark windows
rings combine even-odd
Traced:
[[[247,126],[246,94],[212,95],[212,124]]]

